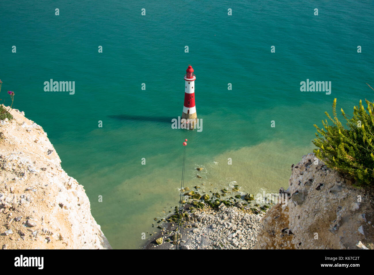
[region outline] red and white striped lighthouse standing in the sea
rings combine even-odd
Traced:
[[[188,129],[194,129],[197,123],[195,106],[195,79],[196,76],[193,73],[193,68],[191,65],[189,65],[186,69],[186,74],[184,75],[184,104],[181,120],[187,120]]]

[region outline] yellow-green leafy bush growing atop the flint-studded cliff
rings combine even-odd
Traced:
[[[360,100],[359,106],[353,107],[353,117],[348,119],[343,109],[341,113],[347,121],[347,129],[343,127],[336,116],[336,98],[332,104],[333,118],[325,112],[332,125],[322,120],[324,128],[316,124],[316,139],[313,144],[316,156],[325,161],[328,167],[349,174],[356,181],[356,186],[374,183],[374,103],[365,99],[368,107],[365,109]]]

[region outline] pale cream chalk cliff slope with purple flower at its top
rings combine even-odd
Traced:
[[[111,249],[47,133],[24,112],[10,113],[0,121],[0,247]]]

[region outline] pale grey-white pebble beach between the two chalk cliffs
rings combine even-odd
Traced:
[[[211,207],[206,201],[195,200],[185,205],[178,249],[252,249],[265,214],[265,210],[255,214],[253,209],[240,202]],[[160,232],[152,235],[143,248],[177,248],[177,222],[172,222],[173,217],[159,220]]]

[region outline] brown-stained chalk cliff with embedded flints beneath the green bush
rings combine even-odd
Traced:
[[[258,249],[374,248],[373,191],[358,189],[314,154],[303,156],[286,191],[263,218]],[[287,199],[286,199],[287,198]]]

